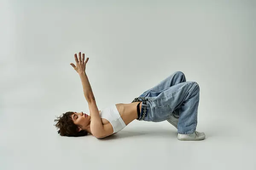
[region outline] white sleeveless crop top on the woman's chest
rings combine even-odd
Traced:
[[[101,118],[107,119],[108,122],[111,123],[114,130],[113,133],[119,132],[126,126],[116,108],[116,105],[111,105],[110,107],[103,109],[99,114]]]

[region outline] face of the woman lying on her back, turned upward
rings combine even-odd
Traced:
[[[86,130],[86,127],[90,123],[90,116],[87,114],[84,114],[83,112],[80,112],[80,113],[74,112],[74,114],[72,114],[71,117],[75,125],[78,126],[79,131]]]

